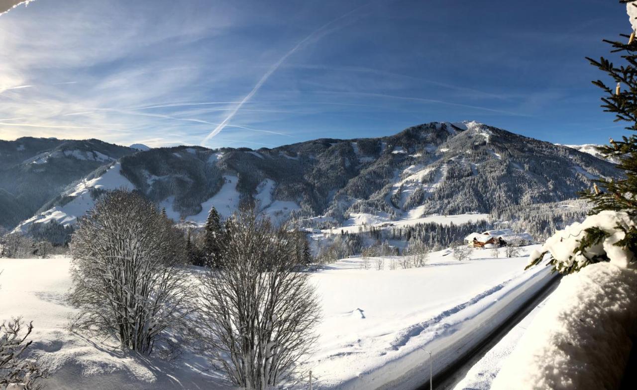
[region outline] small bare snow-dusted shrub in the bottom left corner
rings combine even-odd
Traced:
[[[46,376],[45,371],[35,361],[24,358],[24,352],[32,342],[27,341],[32,330],[32,323],[25,329],[20,318],[0,324],[0,389],[44,388],[40,379]]]

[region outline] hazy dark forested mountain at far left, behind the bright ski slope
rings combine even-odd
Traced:
[[[14,227],[75,180],[133,152],[99,140],[0,141],[0,226]]]

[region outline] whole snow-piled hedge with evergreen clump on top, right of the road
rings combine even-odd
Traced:
[[[637,266],[624,212],[590,215],[548,238],[565,276],[506,359],[492,389],[616,389],[637,335]],[[626,239],[625,239],[626,238]],[[585,243],[585,245],[583,244]]]

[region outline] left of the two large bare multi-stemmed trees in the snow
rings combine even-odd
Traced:
[[[69,299],[80,309],[71,328],[148,354],[169,341],[164,331],[178,328],[192,306],[184,247],[182,232],[141,194],[105,194],[71,240]]]

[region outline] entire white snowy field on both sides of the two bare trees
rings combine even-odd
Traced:
[[[412,388],[428,377],[425,349],[440,370],[548,282],[547,268],[524,271],[526,256],[490,253],[475,250],[473,259],[457,261],[434,252],[427,266],[406,270],[390,270],[392,257],[384,270],[376,270],[376,259],[367,270],[361,258],[343,259],[313,273],[323,307],[317,350],[305,367],[314,388]],[[31,350],[52,371],[50,388],[229,388],[188,352],[166,363],[69,333],[69,259],[0,259],[0,270],[0,317],[33,321]]]

